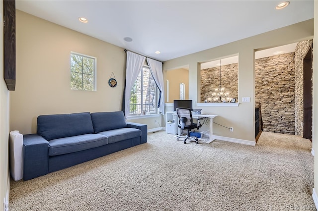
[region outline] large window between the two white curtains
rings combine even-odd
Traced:
[[[158,88],[148,66],[143,66],[130,93],[130,115],[154,114],[158,111]]]

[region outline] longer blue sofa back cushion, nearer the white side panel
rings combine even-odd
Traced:
[[[37,133],[52,139],[94,133],[90,113],[41,115],[37,119]]]

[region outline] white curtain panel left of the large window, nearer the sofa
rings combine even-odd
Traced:
[[[133,87],[138,74],[141,71],[146,57],[137,53],[127,52],[126,63],[126,89],[125,89],[125,116],[127,117],[130,110],[130,91]]]

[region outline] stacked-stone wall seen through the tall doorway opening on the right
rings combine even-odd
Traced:
[[[255,103],[260,103],[264,131],[295,134],[294,53],[255,60]]]

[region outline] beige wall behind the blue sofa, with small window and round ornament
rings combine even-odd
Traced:
[[[71,51],[97,57],[96,92],[71,90]],[[35,133],[42,114],[121,110],[125,63],[122,48],[17,10],[10,130]],[[108,85],[112,72],[115,88]]]

